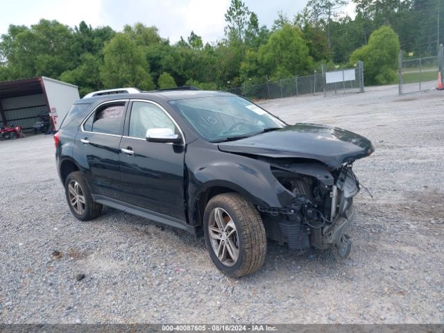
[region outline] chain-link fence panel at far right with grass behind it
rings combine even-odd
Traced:
[[[400,51],[398,60],[399,94],[422,92],[437,88],[439,85],[438,73],[441,71],[440,68],[443,68],[442,45],[436,57],[404,59],[402,51]]]

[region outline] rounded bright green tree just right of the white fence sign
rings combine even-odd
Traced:
[[[382,26],[370,35],[368,44],[350,56],[350,64],[364,61],[364,79],[368,85],[384,85],[396,78],[400,42],[389,26]]]

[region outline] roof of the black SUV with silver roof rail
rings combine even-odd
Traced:
[[[108,100],[113,99],[163,99],[164,101],[175,101],[178,99],[197,99],[200,97],[214,97],[214,96],[230,96],[232,94],[228,92],[215,92],[206,90],[153,90],[153,92],[140,92],[137,94],[111,94],[94,96],[90,98],[83,98],[76,103],[92,103],[96,100]]]

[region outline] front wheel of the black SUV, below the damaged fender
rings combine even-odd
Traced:
[[[264,264],[264,223],[257,209],[239,194],[214,196],[205,207],[203,230],[210,257],[225,275],[241,278]]]

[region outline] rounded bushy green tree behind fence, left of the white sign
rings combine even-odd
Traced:
[[[313,65],[301,31],[289,24],[270,35],[268,42],[259,48],[258,60],[272,79],[307,74]]]

